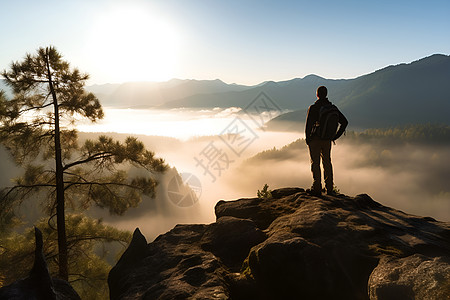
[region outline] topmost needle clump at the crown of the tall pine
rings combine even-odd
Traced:
[[[36,55],[26,54],[22,62],[13,62],[2,75],[16,95],[11,113],[20,115],[29,108],[43,110],[52,105],[48,84],[51,76],[60,109],[69,116],[80,115],[91,121],[103,118],[98,99],[83,89],[89,75],[71,69],[55,47],[41,47]]]

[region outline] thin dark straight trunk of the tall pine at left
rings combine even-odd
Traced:
[[[48,49],[47,49],[48,51]],[[64,175],[61,156],[61,138],[59,129],[59,107],[50,70],[49,56],[47,52],[47,72],[50,92],[53,98],[55,112],[55,163],[56,163],[56,228],[58,231],[58,263],[59,277],[69,280],[67,236],[66,236],[66,215],[64,208]]]

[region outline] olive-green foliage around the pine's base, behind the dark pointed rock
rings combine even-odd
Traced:
[[[108,299],[106,283],[111,266],[106,258],[119,245],[124,251],[131,240],[131,233],[105,225],[101,220],[93,220],[76,214],[67,216],[67,241],[69,252],[69,282],[82,299]],[[57,275],[57,234],[53,225],[45,219],[37,225],[43,233],[44,254],[52,276]],[[26,277],[33,265],[34,230],[24,233],[0,233],[0,286]]]

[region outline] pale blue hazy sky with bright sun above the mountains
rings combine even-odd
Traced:
[[[0,0],[0,70],[54,45],[90,84],[354,78],[450,54],[448,0]]]

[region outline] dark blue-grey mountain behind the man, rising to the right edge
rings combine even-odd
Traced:
[[[418,123],[450,124],[450,56],[432,55],[410,64],[388,66],[355,79],[322,81],[329,98],[356,127]],[[313,88],[313,87],[310,87]],[[315,97],[309,99],[309,104]],[[308,103],[267,124],[272,130],[300,128]]]

